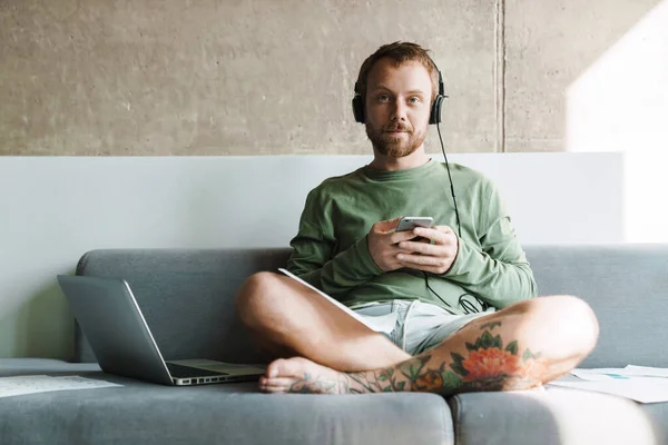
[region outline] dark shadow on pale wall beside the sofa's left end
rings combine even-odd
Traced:
[[[63,274],[73,275],[75,270]],[[16,346],[26,357],[70,359],[73,356],[75,319],[56,276],[24,301],[17,324]]]

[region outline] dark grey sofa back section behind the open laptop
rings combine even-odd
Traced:
[[[124,278],[165,359],[262,363],[235,312],[246,277],[285,266],[289,249],[110,249],[85,254],[77,275]],[[76,326],[75,360],[97,362]]]

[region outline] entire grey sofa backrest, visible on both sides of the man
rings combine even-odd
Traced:
[[[583,367],[668,367],[668,245],[524,246],[540,295],[587,300],[601,335]],[[285,266],[289,249],[112,249],[77,273],[125,278],[166,359],[262,363],[235,312],[246,277]],[[95,362],[76,329],[76,360]]]

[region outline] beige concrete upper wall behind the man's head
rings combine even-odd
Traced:
[[[353,83],[395,40],[450,151],[560,151],[564,91],[659,2],[0,0],[0,155],[367,154]]]

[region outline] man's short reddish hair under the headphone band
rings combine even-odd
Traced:
[[[369,80],[371,69],[380,59],[386,57],[394,61],[395,67],[400,67],[406,62],[422,63],[432,79],[432,97],[430,103],[433,103],[434,98],[439,92],[439,72],[426,51],[428,50],[418,43],[399,41],[383,44],[379,48],[376,52],[364,60],[364,63],[362,63],[362,67],[360,68],[360,75],[357,76],[357,92],[362,96],[362,100],[366,100],[366,81]]]

